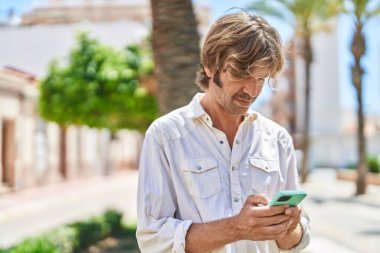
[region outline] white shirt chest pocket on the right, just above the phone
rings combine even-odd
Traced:
[[[279,183],[280,165],[278,161],[265,158],[249,157],[252,176],[252,188],[255,193],[273,196]]]

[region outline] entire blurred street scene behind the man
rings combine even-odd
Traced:
[[[202,39],[232,7],[286,48],[253,108],[293,136],[304,252],[380,252],[380,1],[1,0],[4,252],[139,252],[144,131],[199,92]]]

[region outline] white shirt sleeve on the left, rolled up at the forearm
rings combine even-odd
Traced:
[[[184,253],[192,221],[175,219],[176,194],[162,136],[150,128],[139,166],[136,237],[142,253]]]

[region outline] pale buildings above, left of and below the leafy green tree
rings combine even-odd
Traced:
[[[22,22],[0,27],[0,67],[12,66],[0,70],[0,192],[62,180],[59,127],[42,121],[36,109],[37,79],[48,64],[65,60],[79,30],[114,47],[139,42],[149,33],[150,6],[149,1],[51,0]],[[136,167],[142,137],[122,131],[110,142],[106,130],[69,127],[66,140],[65,173],[75,178],[107,173],[108,162],[113,169]]]

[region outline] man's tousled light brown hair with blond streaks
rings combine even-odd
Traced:
[[[283,66],[284,50],[277,30],[265,19],[241,11],[224,15],[211,26],[196,83],[202,90],[208,88],[210,77],[204,67],[218,82],[220,72],[228,71],[233,79],[243,79],[264,68],[270,77],[276,77]]]

